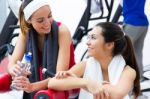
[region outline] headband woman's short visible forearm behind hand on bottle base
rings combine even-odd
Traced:
[[[31,91],[33,92],[33,91],[46,89],[48,85],[48,81],[49,81],[49,78],[42,80],[42,81],[31,83]]]

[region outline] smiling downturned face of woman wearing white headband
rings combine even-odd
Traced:
[[[31,16],[29,23],[39,34],[49,33],[51,31],[52,13],[50,7],[45,5],[38,9]]]

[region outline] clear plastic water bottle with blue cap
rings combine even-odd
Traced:
[[[22,61],[18,64],[21,67],[21,71],[17,74],[17,76],[26,76],[27,74],[30,74],[30,68],[31,68],[31,60],[32,60],[32,53],[28,52],[24,55]],[[11,84],[11,89],[17,89],[17,86],[15,84]]]

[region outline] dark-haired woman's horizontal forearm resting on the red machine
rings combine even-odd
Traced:
[[[86,79],[78,77],[67,77],[63,79],[51,78],[48,83],[48,88],[55,90],[71,90],[75,88],[84,88]]]

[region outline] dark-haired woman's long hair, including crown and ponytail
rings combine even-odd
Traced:
[[[137,97],[140,94],[140,74],[130,38],[124,35],[121,28],[115,23],[102,22],[98,23],[96,26],[102,28],[102,35],[106,43],[114,42],[113,56],[122,54],[126,64],[136,71],[133,93],[135,97]]]

